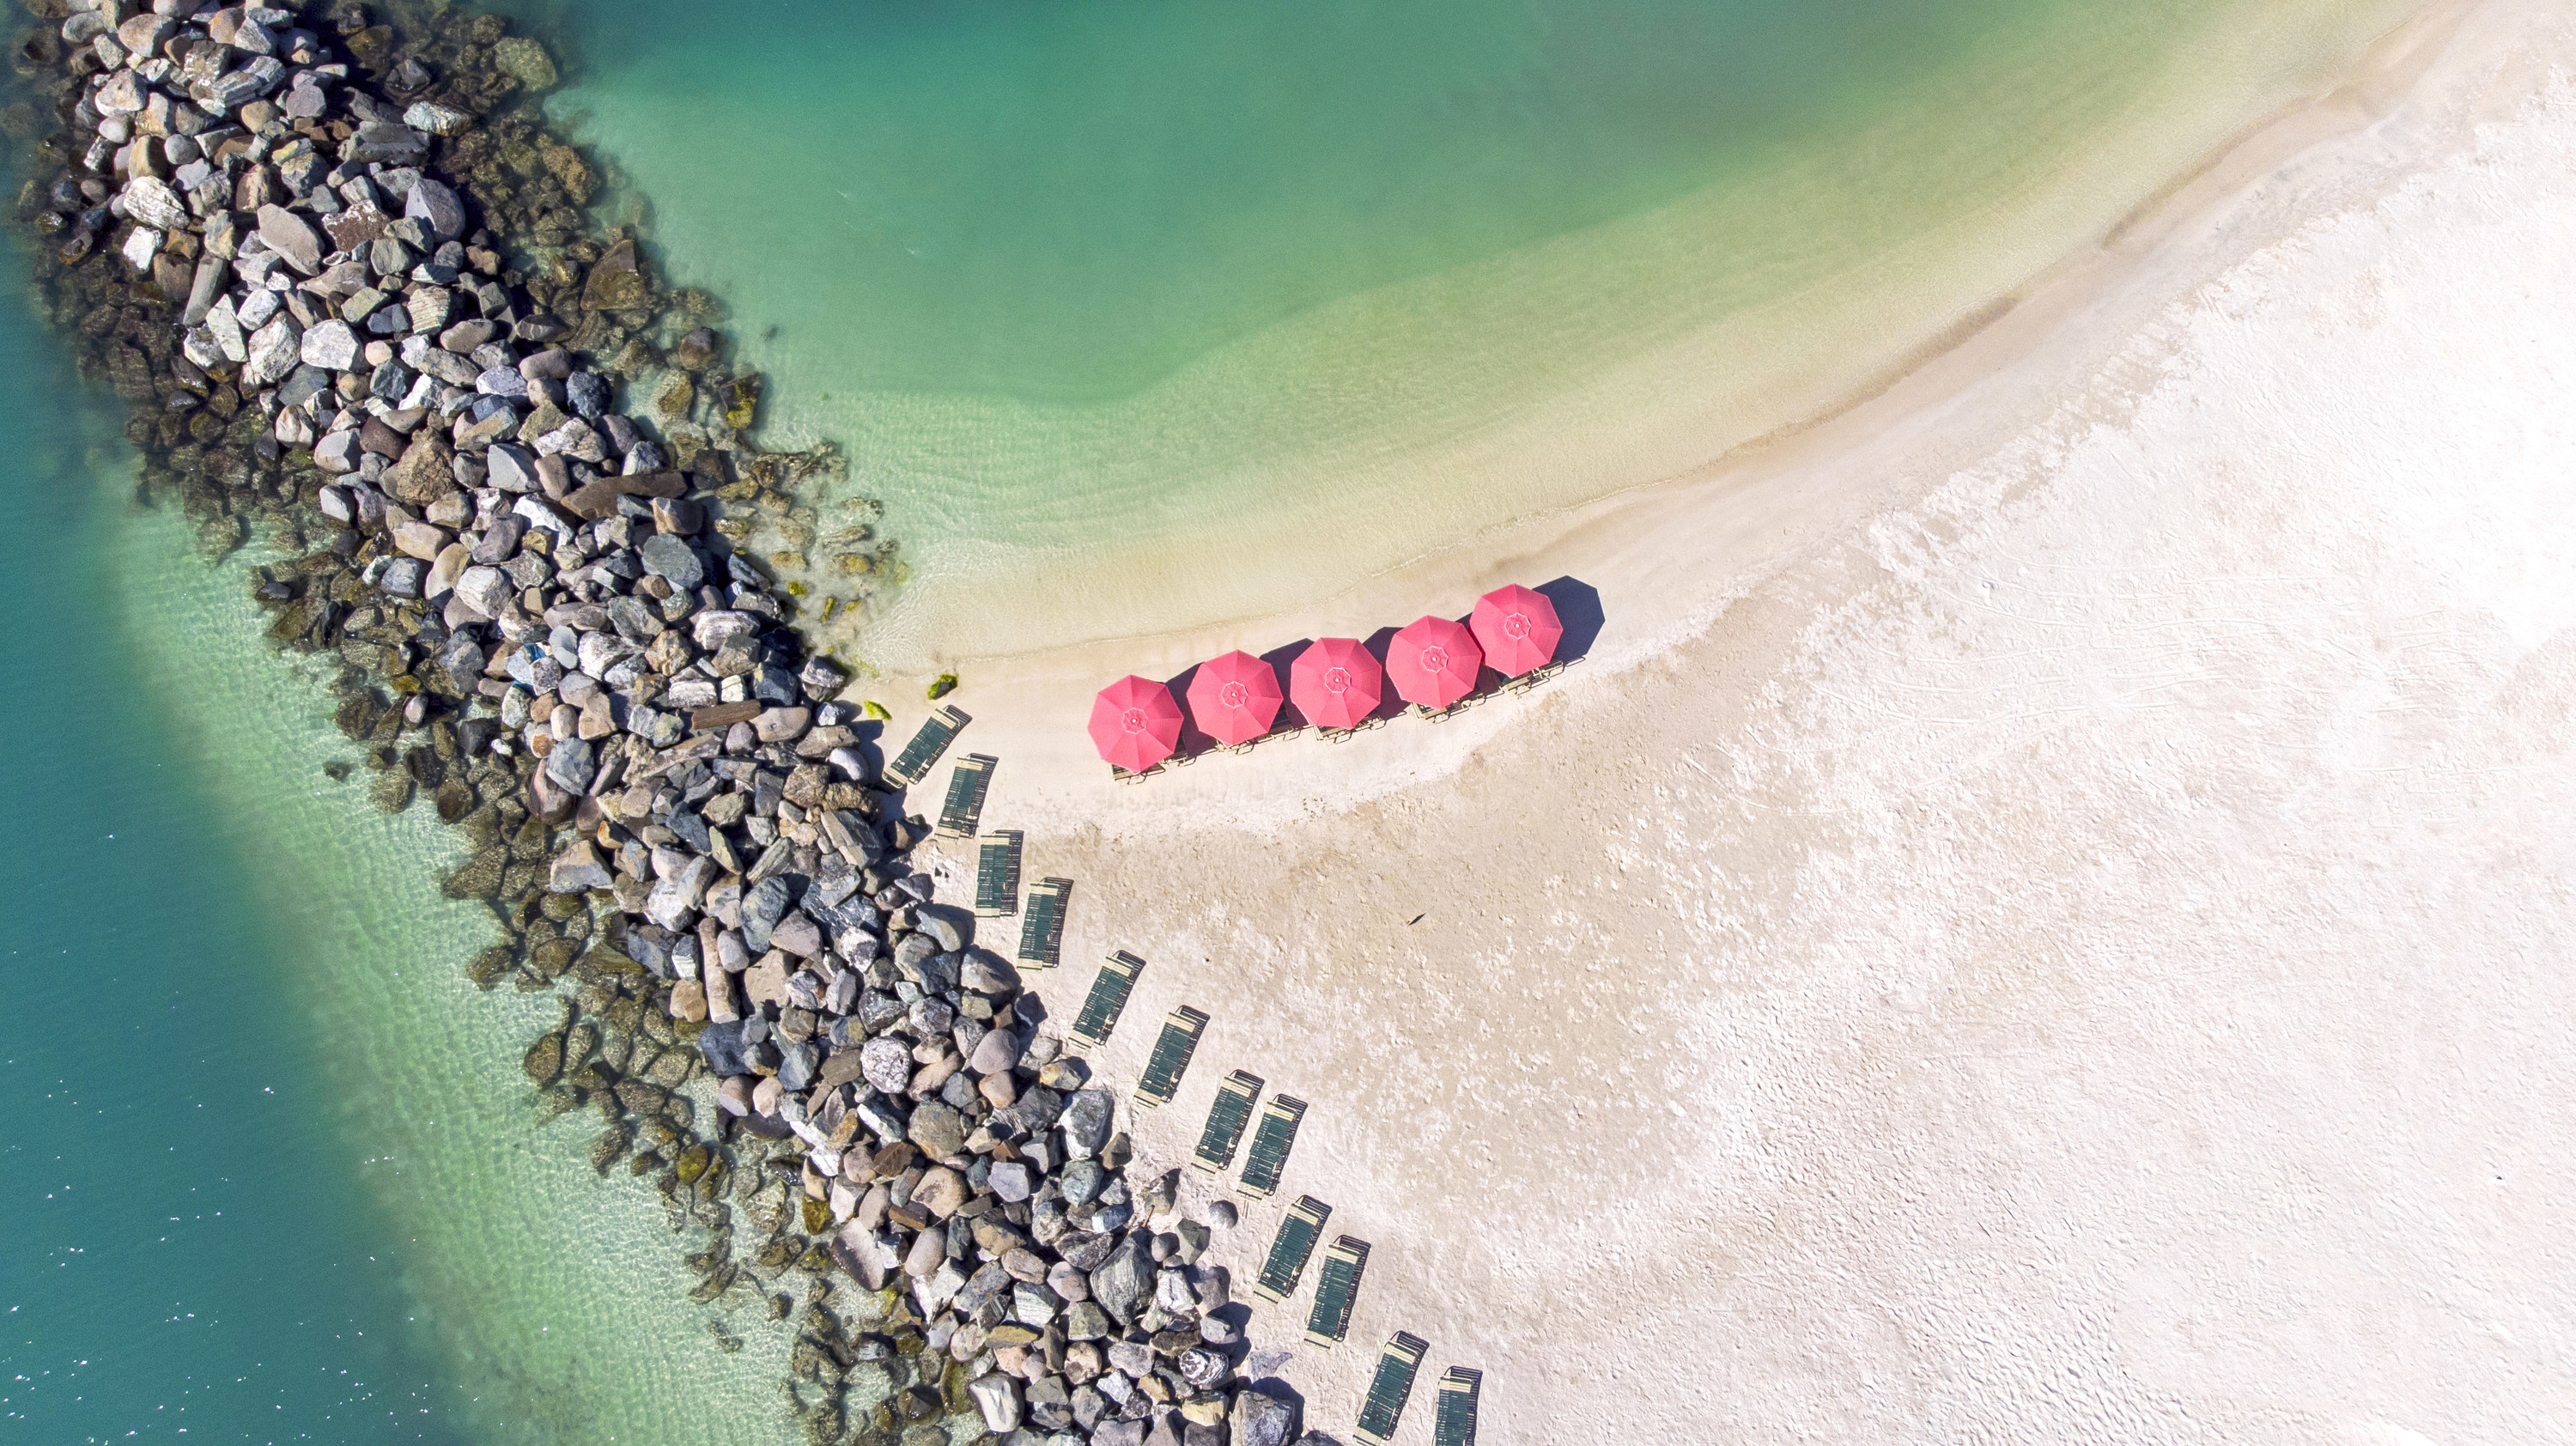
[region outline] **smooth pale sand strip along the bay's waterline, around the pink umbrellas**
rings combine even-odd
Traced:
[[[1929,492],[1958,459],[1989,451],[2002,436],[2032,425],[2069,379],[2115,353],[2164,309],[2174,291],[2210,276],[2282,235],[2285,201],[2316,209],[2318,193],[2352,193],[2388,183],[2372,173],[2360,139],[2429,85],[2429,70],[2476,18],[2517,5],[2442,0],[2383,36],[2354,72],[2331,90],[2241,131],[2200,157],[2156,196],[2125,214],[2110,235],[2069,255],[2012,296],[1989,302],[1984,322],[1947,338],[1901,374],[1865,394],[1728,448],[1685,474],[1607,497],[1499,523],[1448,541],[1425,557],[1373,575],[1314,606],[1262,619],[1048,647],[1002,657],[958,657],[943,670],[966,688],[951,701],[976,724],[974,747],[1005,755],[994,796],[1030,833],[1105,830],[1113,838],[1188,827],[1193,809],[1224,804],[1229,825],[1270,827],[1347,809],[1455,771],[1502,727],[1558,688],[1584,688],[1610,673],[1654,660],[1705,631],[1736,598],[1780,570],[1829,546],[1865,518]],[[2496,39],[2473,39],[2494,49]],[[2450,57],[2455,70],[2494,57]],[[2445,75],[2458,85],[2463,75]],[[2434,98],[2439,103],[2439,98]],[[2336,175],[2311,175],[2308,162],[2336,157]],[[1932,441],[1935,433],[1940,441]],[[1255,655],[1311,637],[1368,637],[1414,616],[1463,613],[1504,583],[1543,585],[1569,577],[1600,593],[1605,626],[1592,657],[1525,699],[1481,693],[1481,704],[1445,722],[1440,742],[1414,735],[1391,742],[1414,719],[1340,745],[1334,771],[1311,781],[1321,758],[1311,737],[1275,737],[1249,758],[1216,755],[1190,771],[1167,768],[1139,786],[1110,786],[1082,735],[1092,693],[1141,673],[1175,678],[1229,650]],[[902,696],[891,737],[922,714],[914,701],[927,675],[871,680],[873,696]],[[1030,784],[1041,778],[1041,784]]]

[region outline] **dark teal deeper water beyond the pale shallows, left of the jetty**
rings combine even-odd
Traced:
[[[461,1441],[258,840],[124,637],[90,467],[124,438],[15,304],[0,376],[0,1438]]]

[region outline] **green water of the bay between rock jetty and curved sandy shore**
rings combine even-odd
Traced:
[[[1860,384],[2401,0],[523,0],[894,665],[1275,611]],[[636,209],[636,201],[626,201]]]

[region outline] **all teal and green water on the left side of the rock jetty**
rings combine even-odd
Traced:
[[[716,1353],[595,1116],[533,1124],[554,1005],[466,985],[456,843],[322,776],[353,750],[245,562],[131,505],[62,358],[13,286],[0,1438],[788,1438],[786,1340]]]

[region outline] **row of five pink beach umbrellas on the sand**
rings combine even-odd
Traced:
[[[1448,709],[1476,691],[1484,668],[1520,678],[1556,660],[1564,637],[1556,606],[1530,588],[1494,588],[1476,598],[1466,626],[1453,619],[1414,619],[1386,644],[1386,665],[1350,637],[1324,637],[1288,662],[1288,699],[1306,722],[1329,729],[1358,727],[1378,711],[1383,686],[1406,704]],[[1278,673],[1249,652],[1229,652],[1198,665],[1188,688],[1190,719],[1216,742],[1252,742],[1280,717]],[[1144,773],[1180,747],[1180,704],[1149,678],[1126,675],[1092,699],[1092,745],[1100,758]]]

